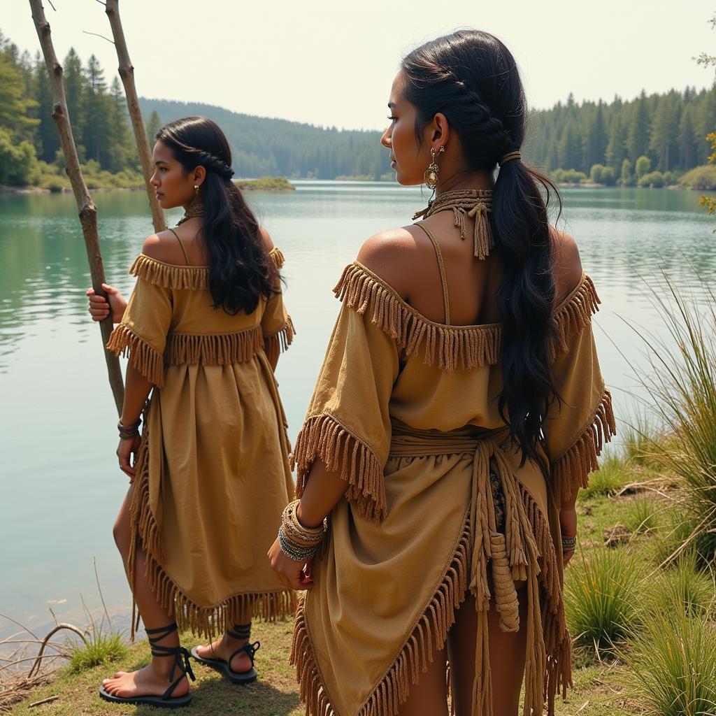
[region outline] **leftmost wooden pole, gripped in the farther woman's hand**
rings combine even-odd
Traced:
[[[50,82],[52,83],[52,119],[57,125],[59,140],[62,143],[62,153],[64,153],[65,170],[67,171],[69,182],[72,184],[74,200],[77,201],[79,223],[82,224],[84,246],[87,248],[87,261],[89,261],[89,271],[92,274],[92,288],[95,289],[97,294],[105,296],[105,292],[102,291],[102,284],[105,282],[105,267],[102,265],[100,238],[97,235],[97,207],[89,195],[87,184],[84,183],[84,177],[82,176],[82,168],[79,166],[77,147],[74,145],[74,137],[72,137],[72,125],[69,123],[67,100],[64,97],[62,65],[59,64],[57,55],[54,54],[52,35],[50,34],[49,22],[44,16],[42,0],[29,0],[29,2],[30,9],[32,9],[32,19],[35,23],[35,29],[37,29],[37,37],[39,37],[42,54],[44,55],[45,64],[47,64],[47,72],[49,72]],[[100,331],[102,332],[102,347],[105,347],[110,339],[110,333],[112,333],[111,316],[108,316],[104,321],[100,321]],[[105,361],[107,362],[107,374],[110,377],[112,395],[114,395],[115,404],[117,405],[117,414],[121,415],[125,389],[122,383],[120,361],[107,349],[105,349]]]

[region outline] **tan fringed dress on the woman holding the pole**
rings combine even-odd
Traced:
[[[279,249],[270,258],[280,269]],[[294,597],[266,559],[294,490],[267,359],[294,335],[279,277],[269,301],[230,316],[213,308],[206,267],[140,254],[130,273],[137,283],[107,347],[155,385],[137,455],[130,581],[140,540],[150,586],[180,629],[217,634],[247,609],[291,614]]]

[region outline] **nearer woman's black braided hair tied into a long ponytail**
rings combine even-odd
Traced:
[[[415,133],[437,112],[457,132],[470,170],[494,170],[518,151],[527,103],[515,60],[496,37],[458,30],[410,52],[402,61],[405,98],[417,110]],[[521,448],[538,460],[543,421],[558,400],[549,359],[556,296],[547,205],[548,178],[521,160],[505,163],[495,181],[490,225],[503,271],[497,304],[503,321],[500,417]],[[544,195],[544,196],[543,196]]]

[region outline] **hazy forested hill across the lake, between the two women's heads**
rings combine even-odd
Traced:
[[[140,99],[147,120],[155,110],[162,123],[204,115],[226,132],[239,177],[282,175],[334,179],[351,175],[379,179],[390,172],[380,132],[323,129],[314,125],[242,115],[192,102]]]

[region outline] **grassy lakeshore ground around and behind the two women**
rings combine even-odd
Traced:
[[[688,565],[680,572],[673,566],[659,566],[664,555],[672,551],[673,516],[681,500],[677,478],[659,471],[650,460],[637,455],[633,446],[619,456],[607,458],[604,468],[593,475],[589,490],[581,493],[578,503],[580,543],[566,576],[568,620],[575,639],[575,688],[568,692],[565,702],[558,699],[558,716],[646,713],[649,704],[639,692],[638,665],[635,668],[629,662],[637,653],[630,630],[638,634],[649,615],[659,611],[657,604],[670,604],[674,609],[674,597],[669,590],[678,589],[674,581],[679,574],[687,583],[686,589],[698,595],[697,601],[707,603],[713,598],[713,585],[707,573],[697,574]],[[597,574],[594,568],[601,572]],[[624,579],[619,584],[637,587],[632,594],[632,604],[628,605],[633,607],[630,609],[623,608],[628,594],[613,589],[616,582],[609,584],[620,569]],[[600,580],[607,584],[600,586]],[[647,583],[649,589],[638,589]],[[585,595],[591,595],[591,599]],[[695,618],[705,620],[712,629],[712,616],[706,614],[707,611],[701,611]],[[257,656],[259,681],[251,686],[232,687],[216,672],[195,664],[197,682],[193,687],[192,712],[201,716],[302,714],[294,670],[288,664],[291,629],[290,621],[255,625],[252,636],[261,641]],[[198,639],[186,635],[188,647],[197,643]],[[97,686],[102,678],[118,669],[136,669],[147,663],[149,656],[149,649],[142,641],[130,647],[127,656],[114,664],[80,672],[64,667],[49,684],[30,691],[11,712],[22,716],[154,714],[148,708],[135,710],[107,705],[97,697]],[[50,697],[57,699],[30,707]]]

